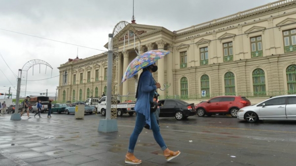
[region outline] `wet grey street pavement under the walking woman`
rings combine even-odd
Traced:
[[[0,166],[129,166],[124,163],[135,115],[117,118],[118,132],[97,132],[100,114],[52,114],[11,121],[0,116]],[[229,116],[160,118],[161,134],[181,155],[166,162],[151,131],[140,134],[142,166],[295,166],[296,122],[249,124]]]

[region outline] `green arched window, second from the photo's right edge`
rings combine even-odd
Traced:
[[[254,96],[266,96],[264,71],[257,68],[253,71],[252,76]]]

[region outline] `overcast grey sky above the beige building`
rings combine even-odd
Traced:
[[[135,0],[134,15],[138,24],[176,31],[273,1]],[[17,74],[28,61],[40,59],[53,70],[47,67],[45,73],[45,66],[34,66],[33,74],[31,67],[27,95],[47,89],[49,96],[55,96],[57,67],[77,55],[77,46],[20,33],[95,48],[78,47],[78,57],[86,58],[107,51],[103,46],[108,34],[119,21],[130,22],[132,14],[133,0],[0,0],[0,93],[8,93],[11,87],[16,95],[17,80],[12,71]]]

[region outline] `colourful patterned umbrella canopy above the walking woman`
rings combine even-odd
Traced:
[[[129,78],[132,78],[138,71],[142,68],[154,64],[157,60],[163,58],[165,55],[169,54],[170,51],[167,50],[151,50],[143,54],[138,55],[128,66],[123,74],[121,83]]]

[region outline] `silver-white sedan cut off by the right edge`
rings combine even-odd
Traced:
[[[296,95],[276,96],[237,112],[237,118],[254,123],[258,120],[296,121]]]

